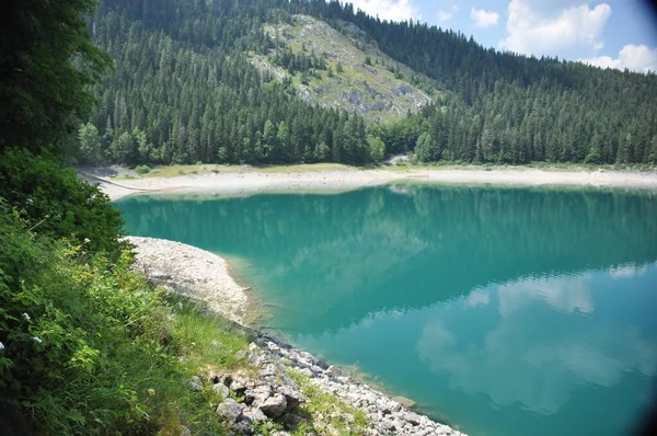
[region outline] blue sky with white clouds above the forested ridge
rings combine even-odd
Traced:
[[[346,1],[381,20],[460,31],[498,50],[657,71],[657,15],[644,0]]]

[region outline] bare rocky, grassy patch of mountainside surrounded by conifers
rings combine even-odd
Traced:
[[[276,48],[266,56],[253,56],[254,65],[268,71],[281,66],[279,77],[289,78],[298,95],[308,103],[344,108],[369,121],[403,117],[431,102],[425,91],[404,80],[424,74],[401,66],[378,50],[376,44],[365,44],[364,38],[358,38],[358,27],[351,24],[349,30],[351,38],[309,15],[293,15],[289,24],[266,23],[265,34]],[[315,58],[321,68],[290,71],[283,67],[299,57]],[[423,79],[425,88],[437,94],[435,82]]]

